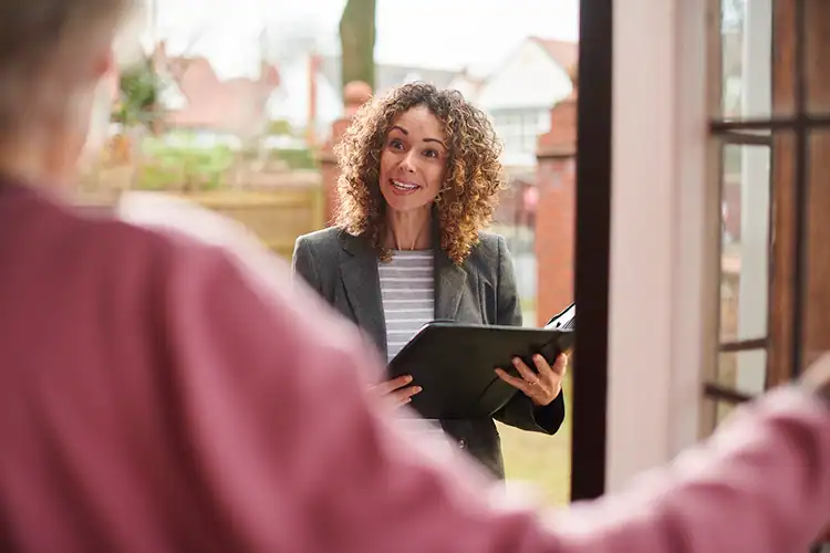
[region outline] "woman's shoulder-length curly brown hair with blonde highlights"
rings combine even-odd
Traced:
[[[386,201],[378,182],[381,153],[393,122],[418,106],[442,122],[447,137],[447,178],[434,213],[440,248],[460,264],[492,219],[506,179],[499,160],[501,143],[492,125],[458,91],[411,83],[361,107],[335,147],[341,170],[335,223],[351,234],[365,236],[382,259],[388,258],[391,252],[381,247],[386,230]]]

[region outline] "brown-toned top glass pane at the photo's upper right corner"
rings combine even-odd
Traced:
[[[830,115],[830,2],[806,0],[805,4],[807,111]]]

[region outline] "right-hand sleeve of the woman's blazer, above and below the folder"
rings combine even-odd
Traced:
[[[521,326],[521,303],[516,289],[516,273],[504,237],[498,237],[497,279],[497,324]],[[494,418],[522,430],[553,435],[564,420],[563,392],[560,392],[557,398],[544,407],[537,407],[532,399],[518,393],[494,415]]]

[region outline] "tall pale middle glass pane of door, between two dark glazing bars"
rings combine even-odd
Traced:
[[[720,341],[767,336],[770,150],[727,144],[720,197]]]

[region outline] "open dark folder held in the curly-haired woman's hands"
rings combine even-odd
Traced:
[[[517,375],[512,357],[532,367],[533,354],[553,363],[572,346],[570,330],[433,322],[395,355],[387,371],[392,378],[412,375],[413,385],[423,387],[411,406],[424,418],[491,417],[518,392],[496,375],[496,367]]]

